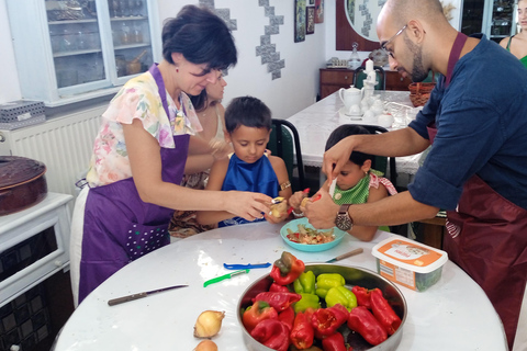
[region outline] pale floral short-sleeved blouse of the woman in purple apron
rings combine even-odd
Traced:
[[[86,177],[90,186],[105,185],[132,177],[122,124],[139,120],[145,131],[164,148],[177,147],[173,135],[194,135],[201,132],[194,107],[184,92],[179,95],[179,102],[181,110],[177,109],[167,92],[167,116],[150,72],[126,82],[102,114],[101,128],[96,137]]]

